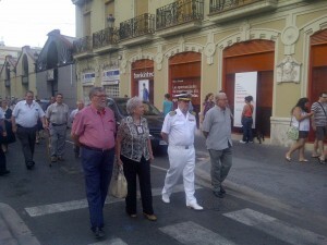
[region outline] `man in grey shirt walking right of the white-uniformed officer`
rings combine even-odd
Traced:
[[[231,112],[225,93],[216,96],[216,106],[206,113],[203,134],[211,160],[211,185],[214,195],[223,198],[222,182],[232,166]]]

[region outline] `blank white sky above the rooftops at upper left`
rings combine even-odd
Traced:
[[[52,29],[75,36],[71,0],[0,0],[0,40],[5,46],[41,48]]]

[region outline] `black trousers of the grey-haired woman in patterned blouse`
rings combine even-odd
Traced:
[[[136,213],[136,175],[138,175],[143,212],[154,215],[150,162],[145,160],[144,157],[142,157],[140,162],[123,156],[121,156],[121,160],[124,164],[124,175],[128,181],[126,212],[129,215]]]

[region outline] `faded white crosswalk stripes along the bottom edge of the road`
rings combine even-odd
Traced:
[[[246,208],[232,212],[222,213],[222,216],[246,226],[259,230],[265,234],[274,236],[277,241],[294,245],[326,245],[327,237],[316,234],[302,228],[296,228],[290,223],[278,220],[271,216]],[[193,221],[173,223],[158,228],[164,235],[169,236],[179,244],[185,245],[242,245],[231,238],[213,232],[211,230],[199,225]],[[223,231],[221,232],[223,233]],[[254,237],[255,241],[255,237]],[[112,238],[89,245],[128,245],[123,238]],[[174,244],[174,243],[173,243]],[[254,243],[255,244],[255,243]],[[271,244],[269,242],[265,244]]]

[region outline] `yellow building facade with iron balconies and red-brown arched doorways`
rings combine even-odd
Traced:
[[[104,86],[109,96],[189,90],[195,112],[223,90],[235,114],[255,98],[255,128],[286,145],[290,110],[327,90],[324,0],[72,0],[76,5],[77,96]]]

